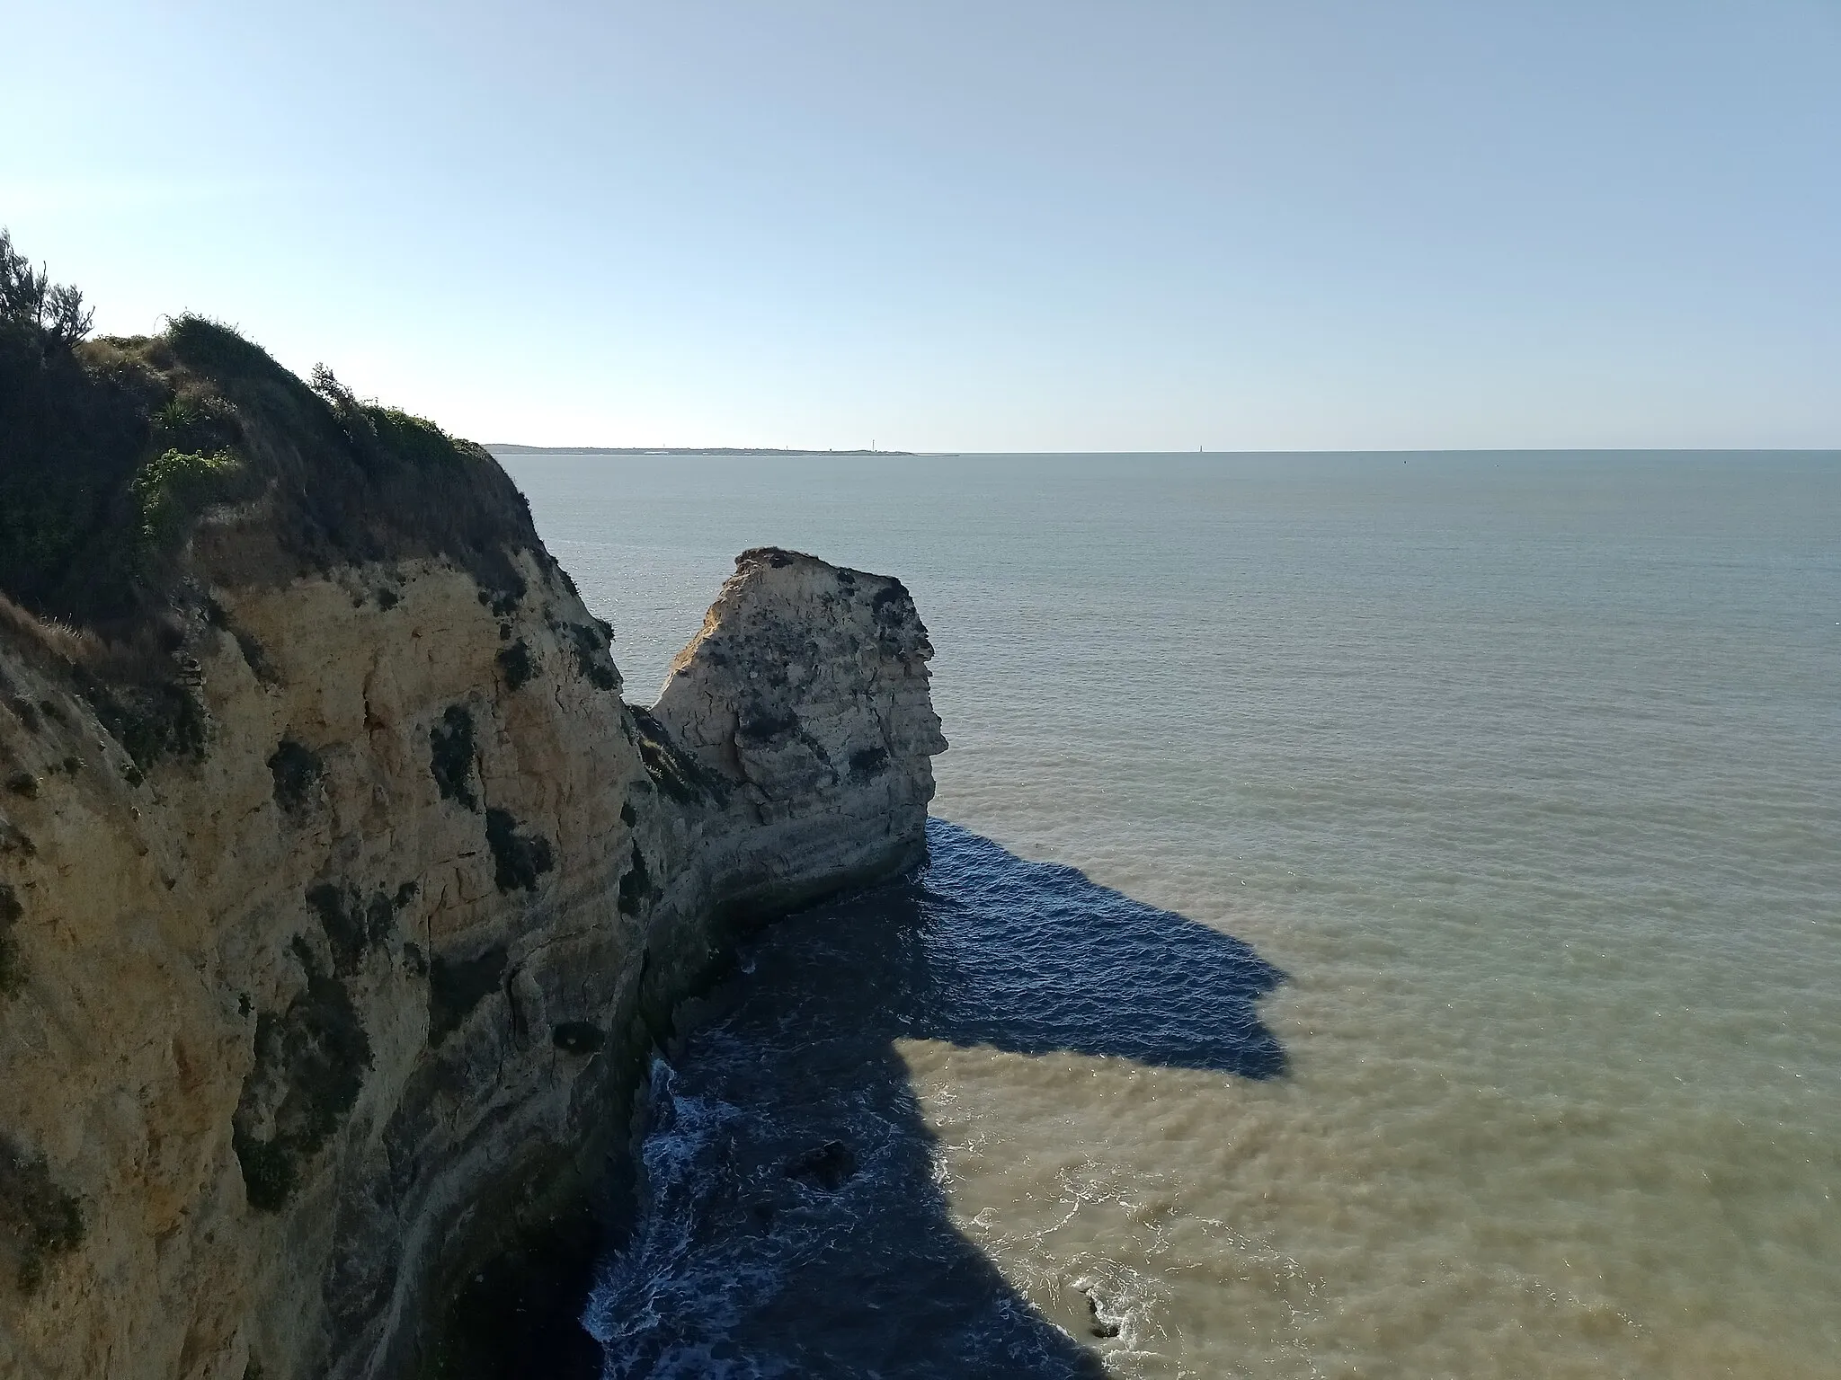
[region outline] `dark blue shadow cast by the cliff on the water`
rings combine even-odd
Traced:
[[[1283,973],[1246,944],[937,819],[928,845],[762,931],[655,1064],[639,1216],[584,1319],[609,1380],[1103,1374],[952,1225],[897,1041],[1283,1073],[1256,1012]]]

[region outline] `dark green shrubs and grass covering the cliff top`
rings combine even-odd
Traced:
[[[203,316],[87,333],[81,294],[0,230],[0,594],[31,615],[144,642],[186,576],[280,581],[418,556],[521,589],[508,556],[541,548],[481,447],[326,368],[304,381]]]

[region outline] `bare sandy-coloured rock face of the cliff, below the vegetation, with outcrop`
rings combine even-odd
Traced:
[[[746,554],[646,712],[517,559],[212,589],[208,747],[144,780],[0,631],[0,1374],[396,1373],[493,1220],[624,1144],[736,918],[922,850],[897,581]]]

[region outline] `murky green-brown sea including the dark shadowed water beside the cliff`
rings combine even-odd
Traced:
[[[952,742],[655,1071],[609,1374],[1841,1373],[1841,456],[506,467],[630,699],[773,543]]]

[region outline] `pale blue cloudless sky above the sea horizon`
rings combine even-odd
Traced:
[[[0,224],[479,440],[1841,445],[1841,2],[9,7]]]

